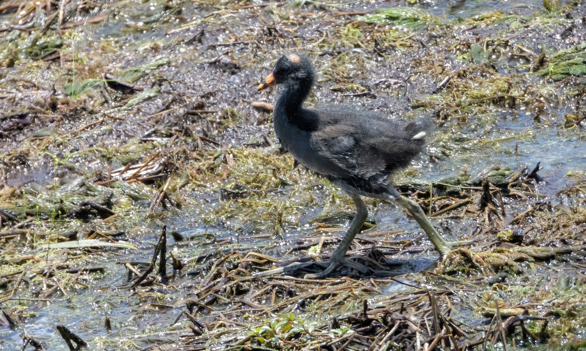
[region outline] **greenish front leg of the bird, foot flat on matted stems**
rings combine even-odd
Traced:
[[[328,268],[320,273],[305,274],[306,279],[326,277],[340,266],[352,267],[359,271],[365,270],[366,267],[362,266],[362,264],[358,264],[344,258],[344,256],[346,256],[346,251],[350,247],[350,243],[352,243],[352,240],[356,234],[360,232],[362,225],[364,225],[364,222],[366,221],[366,216],[368,215],[368,209],[366,208],[364,201],[362,201],[360,198],[360,195],[352,193],[349,193],[349,195],[356,204],[356,216],[352,220],[352,223],[350,223],[350,228],[348,228],[346,235],[344,235],[344,238],[342,238],[342,241],[339,243],[338,247],[336,247],[336,250],[330,257]]]

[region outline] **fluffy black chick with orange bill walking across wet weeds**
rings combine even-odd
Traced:
[[[339,267],[365,271],[362,264],[346,260],[350,243],[366,221],[362,197],[396,201],[405,207],[427,233],[442,257],[460,243],[447,242],[430,223],[417,202],[401,195],[389,177],[408,166],[424,149],[429,123],[402,123],[383,114],[352,106],[304,108],[312,90],[315,68],[304,54],[281,56],[258,91],[282,85],[273,109],[275,135],[296,163],[302,164],[345,191],[356,205],[356,215],[321,272],[305,278],[323,278]]]

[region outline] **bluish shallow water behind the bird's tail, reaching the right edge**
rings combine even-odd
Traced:
[[[475,124],[475,121],[471,121]],[[505,139],[509,136],[510,139]],[[474,138],[473,133],[471,133]],[[421,166],[421,179],[438,179],[458,174],[463,167],[469,174],[476,174],[495,166],[512,169],[527,167],[532,171],[537,163],[543,168],[539,175],[545,183],[539,184],[538,191],[554,201],[557,192],[571,184],[567,173],[586,169],[586,150],[580,129],[562,129],[533,122],[533,116],[522,111],[516,116],[506,112],[496,115],[495,125],[488,135],[482,137],[483,144],[472,152],[454,154],[448,159]],[[490,143],[489,140],[497,140]],[[433,148],[431,144],[429,147]]]

